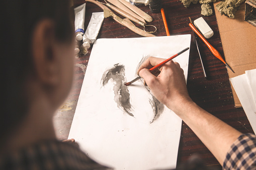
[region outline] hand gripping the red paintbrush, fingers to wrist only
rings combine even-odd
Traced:
[[[169,109],[176,112],[176,107],[181,105],[181,102],[191,101],[183,69],[179,63],[169,61],[159,68],[160,74],[158,76],[154,76],[148,70],[164,60],[149,57],[141,64],[137,73],[144,78],[153,95]]]

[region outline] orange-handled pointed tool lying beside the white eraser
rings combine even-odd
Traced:
[[[222,61],[233,73],[235,73],[225,62],[225,60],[221,57],[220,53],[210,44],[208,41],[202,36],[202,34],[196,29],[196,27],[192,24],[191,18],[189,17],[190,22],[189,26],[192,28],[192,30],[203,40],[203,42],[207,45],[207,47],[211,50],[212,54],[217,57],[220,61]]]

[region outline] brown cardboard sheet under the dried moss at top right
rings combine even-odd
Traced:
[[[214,9],[225,60],[235,72],[227,70],[229,78],[232,78],[256,68],[256,27],[244,21],[244,4],[235,13],[235,19],[230,19],[216,10],[218,3],[214,4]],[[233,87],[232,92],[235,107],[241,107]]]

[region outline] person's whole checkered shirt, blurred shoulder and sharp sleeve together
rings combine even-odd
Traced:
[[[110,169],[83,153],[77,146],[47,141],[0,155],[0,169]],[[256,136],[242,134],[231,145],[223,169],[256,169]]]

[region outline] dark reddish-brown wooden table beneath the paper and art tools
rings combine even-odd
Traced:
[[[77,7],[83,3],[84,1],[82,0],[74,0],[74,7]],[[215,15],[210,17],[202,16],[200,14],[200,4],[191,4],[189,8],[185,8],[181,1],[178,0],[162,0],[162,7],[165,10],[166,20],[171,35],[192,34],[192,29],[188,25],[190,22],[189,17],[191,17],[192,20],[203,17],[214,31],[214,36],[209,39],[209,43],[212,44],[222,56],[224,56]],[[139,8],[153,18],[153,22],[150,24],[156,26],[157,28],[157,32],[154,33],[154,35],[166,36],[161,14],[151,13],[148,6],[145,7],[143,5]],[[214,9],[213,5],[212,9]],[[94,4],[87,3],[85,22],[86,27],[89,24],[93,12],[102,12],[102,9]],[[112,18],[107,18],[104,20],[98,36],[98,38],[136,37],[141,36],[116,23]],[[253,133],[243,109],[234,107],[234,100],[225,65],[213,56],[202,41],[199,41],[199,44],[201,45],[201,55],[208,79],[204,78],[199,55],[192,39],[187,82],[187,87],[191,98],[203,109],[242,133]],[[90,54],[91,49],[89,50],[88,54],[79,54],[75,58],[75,76],[73,88],[66,102],[58,110],[54,117],[54,125],[58,139],[67,139],[68,137]],[[199,140],[199,138],[187,126],[187,124],[183,122],[177,165],[186,161],[192,154],[195,153],[198,153],[201,156],[206,165],[217,167],[217,169],[221,168],[220,164],[212,153]]]

